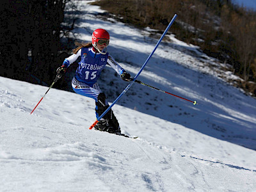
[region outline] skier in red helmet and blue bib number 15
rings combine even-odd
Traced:
[[[106,95],[102,93],[97,84],[100,72],[110,65],[124,81],[131,81],[131,75],[120,67],[112,56],[104,51],[109,45],[109,33],[105,29],[96,29],[92,33],[92,43],[84,44],[76,42],[78,46],[68,58],[65,58],[63,65],[57,69],[57,76],[60,78],[68,66],[81,56],[79,67],[72,79],[72,88],[74,92],[90,97],[95,100],[96,118],[109,107]],[[118,120],[110,109],[106,115],[95,125],[95,130],[107,131],[110,133],[121,134]]]

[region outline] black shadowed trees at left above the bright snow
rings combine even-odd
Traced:
[[[61,65],[60,40],[68,0],[2,0],[0,3],[0,75],[51,84]]]

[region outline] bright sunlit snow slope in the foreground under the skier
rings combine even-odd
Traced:
[[[254,150],[118,105],[115,111],[122,124],[130,122],[124,131],[140,130],[140,138],[89,130],[94,102],[54,89],[35,115],[29,115],[36,93],[46,88],[3,77],[0,82],[0,191],[256,189]],[[65,102],[67,98],[74,102]],[[82,109],[84,105],[88,107]],[[154,134],[156,127],[162,131]],[[163,142],[150,141],[151,134]],[[170,145],[163,145],[167,142]],[[208,152],[198,156],[186,151],[193,147],[207,147]]]

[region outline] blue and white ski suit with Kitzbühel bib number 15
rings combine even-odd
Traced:
[[[114,68],[119,75],[124,73],[125,70],[116,63],[108,52],[106,54],[100,54],[99,52],[95,54],[92,47],[79,49],[76,54],[72,54],[72,56],[66,58],[63,65],[68,67],[74,63],[79,56],[81,56],[81,61],[78,63],[79,67],[72,79],[72,88],[74,92],[90,97],[98,102],[98,95],[102,93],[102,91],[99,88],[99,84],[97,84],[97,79],[106,65],[108,64]],[[108,106],[107,100],[106,106]],[[97,113],[96,117],[99,118]]]

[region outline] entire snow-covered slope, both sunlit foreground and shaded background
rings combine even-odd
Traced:
[[[76,36],[106,28],[108,51],[135,75],[157,40],[87,2]],[[255,191],[255,99],[212,68],[223,63],[169,38],[139,80],[199,105],[134,84],[113,111],[136,140],[89,130],[95,102],[76,93],[52,88],[30,115],[48,88],[0,77],[0,191]],[[109,102],[127,86],[114,74],[99,82]]]

